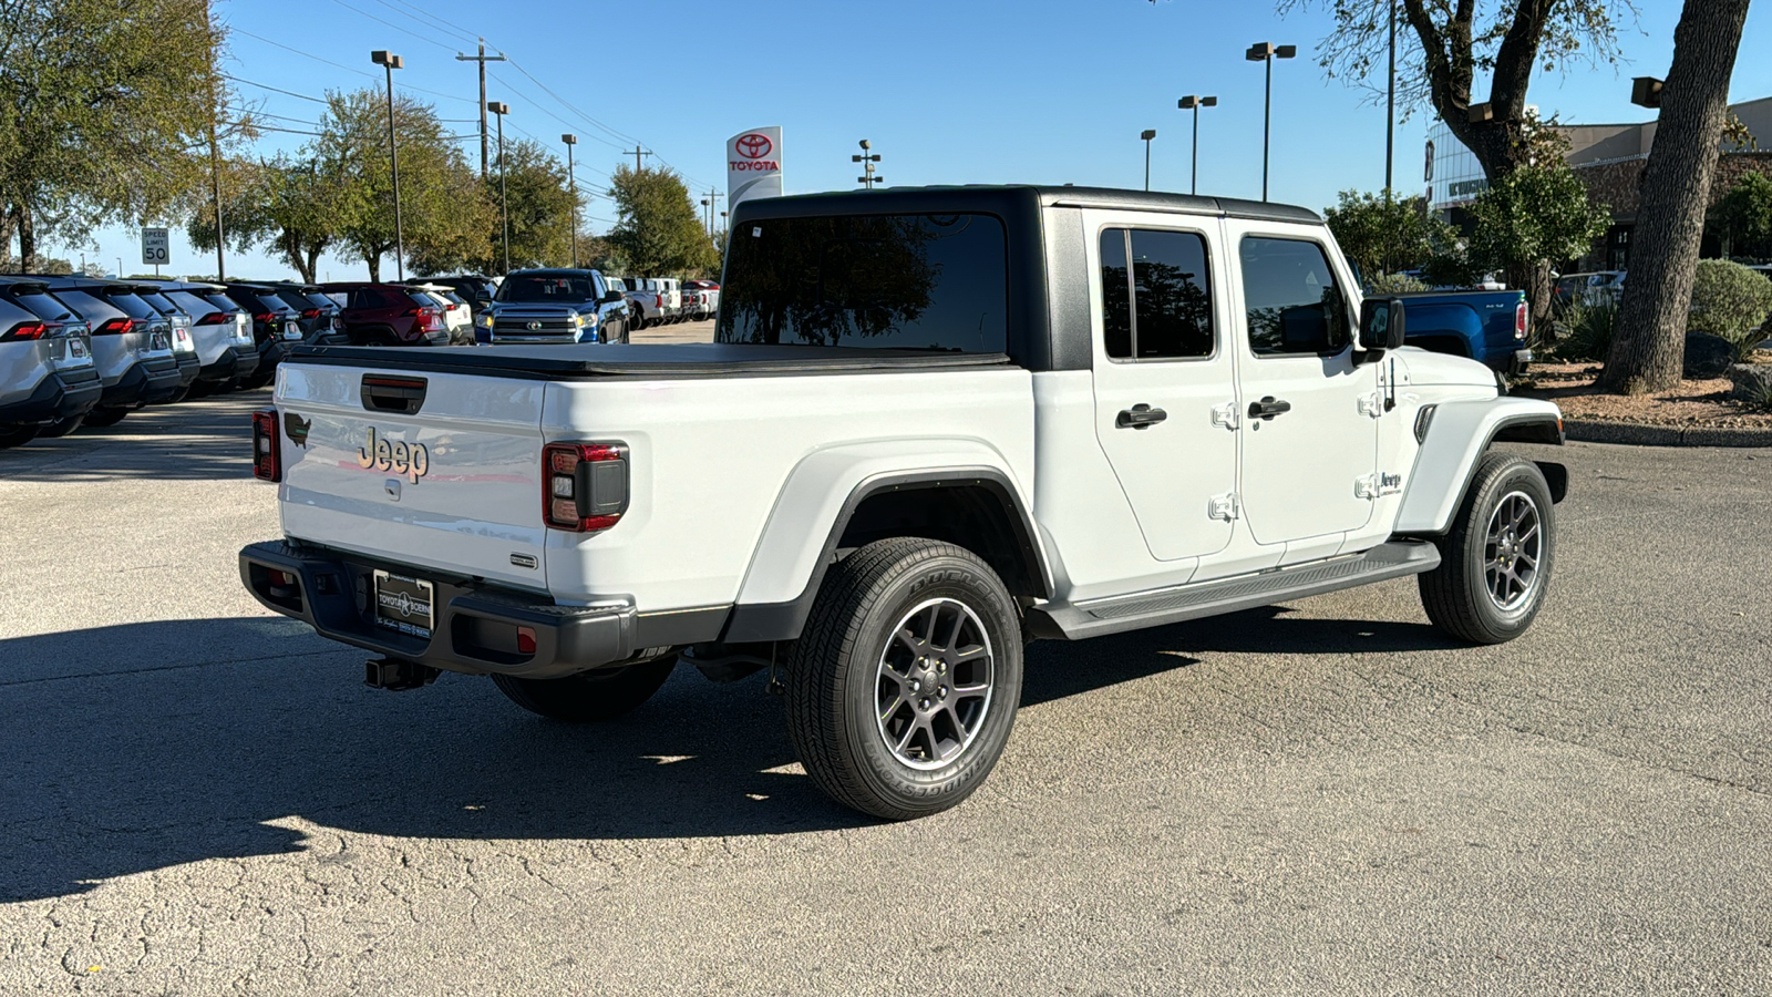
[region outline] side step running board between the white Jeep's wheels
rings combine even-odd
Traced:
[[[1364,553],[1297,568],[1081,603],[1047,603],[1028,610],[1028,628],[1035,637],[1079,640],[1318,596],[1434,568],[1439,568],[1439,550],[1432,543],[1393,541]]]

